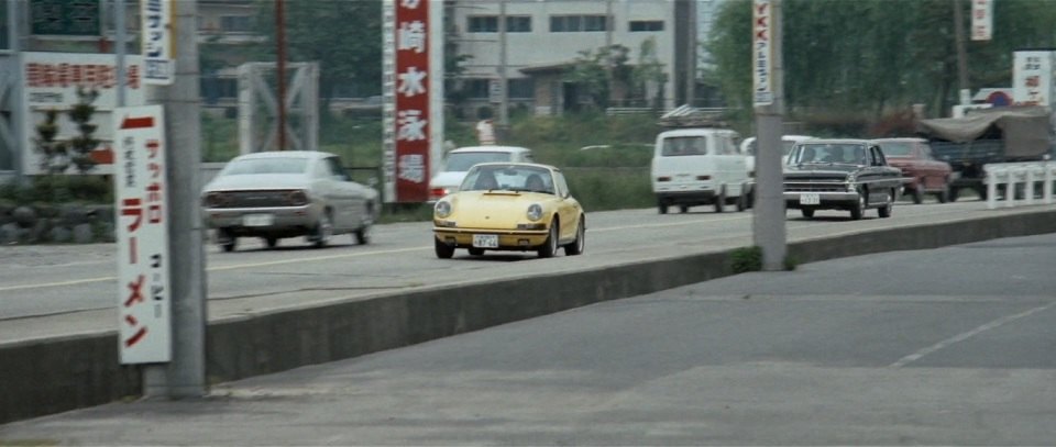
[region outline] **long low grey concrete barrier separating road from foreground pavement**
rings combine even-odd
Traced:
[[[798,262],[1056,233],[1045,210],[887,228],[789,244]],[[207,373],[222,382],[398,348],[490,326],[733,275],[728,252],[566,273],[422,288],[212,321]],[[117,334],[0,345],[0,423],[141,393],[141,370],[118,362]]]

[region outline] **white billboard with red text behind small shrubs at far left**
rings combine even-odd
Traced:
[[[130,55],[124,64],[124,103],[142,105],[146,103],[142,75],[142,58]],[[77,90],[95,90],[99,96],[91,103],[96,112],[91,124],[96,125],[92,135],[99,139],[99,146],[90,155],[99,165],[91,174],[112,175],[113,152],[113,109],[118,105],[117,58],[109,54],[89,53],[33,53],[20,55],[19,68],[22,71],[22,103],[28,108],[23,126],[23,147],[28,149],[22,157],[22,169],[26,175],[42,174],[40,155],[34,150],[37,124],[44,122],[45,112],[57,110],[59,113],[58,134],[55,139],[67,141],[79,134],[75,122],[66,111],[77,103]]]

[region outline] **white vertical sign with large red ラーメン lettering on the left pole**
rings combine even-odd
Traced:
[[[121,362],[169,361],[172,287],[164,109],[117,109],[113,135]]]

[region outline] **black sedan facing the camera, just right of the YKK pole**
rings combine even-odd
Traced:
[[[804,217],[817,210],[845,210],[859,220],[867,209],[890,217],[902,191],[902,171],[888,166],[880,146],[867,139],[811,139],[789,154],[784,203]]]

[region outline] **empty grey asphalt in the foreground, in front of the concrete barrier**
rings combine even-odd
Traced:
[[[1056,234],[745,273],[0,445],[1052,445],[1053,271]]]

